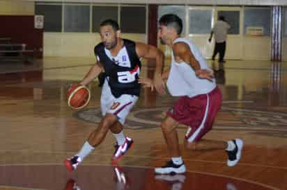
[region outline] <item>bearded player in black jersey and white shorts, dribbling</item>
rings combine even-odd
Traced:
[[[95,46],[97,62],[84,77],[81,85],[87,85],[102,72],[106,79],[102,87],[101,110],[102,120],[74,157],[65,159],[69,171],[99,146],[111,130],[116,138],[115,152],[112,162],[118,162],[127,153],[134,141],[123,134],[123,123],[130,110],[137,102],[141,85],[138,83],[141,71],[139,58],[155,59],[153,84],[160,94],[164,94],[164,82],[161,78],[164,54],[155,46],[132,42],[121,37],[118,23],[107,19],[100,24],[102,42]]]

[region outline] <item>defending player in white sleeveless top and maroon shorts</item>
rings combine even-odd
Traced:
[[[183,29],[182,20],[176,15],[163,15],[160,18],[158,37],[163,44],[171,47],[173,53],[171,68],[162,74],[172,96],[179,96],[178,101],[166,113],[161,124],[171,160],[163,167],[155,168],[155,173],[185,173],[186,168],[180,156],[178,123],[188,126],[185,135],[185,148],[189,150],[226,150],[227,165],[238,163],[243,142],[241,139],[231,141],[211,141],[201,139],[212,128],[215,116],[222,105],[222,94],[213,78],[199,49],[189,40],[180,37]],[[140,79],[146,87],[153,87],[153,81]]]

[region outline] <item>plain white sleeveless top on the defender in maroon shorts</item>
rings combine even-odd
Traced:
[[[176,42],[185,42],[188,44],[194,58],[199,62],[201,69],[210,70],[199,49],[197,49],[192,42],[186,38],[177,38],[173,44]],[[166,85],[171,96],[189,96],[189,98],[199,94],[208,94],[216,87],[215,79],[210,81],[204,78],[198,78],[189,64],[186,62],[177,63],[174,60],[173,53],[171,54],[171,70]]]

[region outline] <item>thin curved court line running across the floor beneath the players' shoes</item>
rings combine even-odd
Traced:
[[[49,164],[0,164],[0,166],[63,166],[63,164],[57,164],[57,163],[49,163]],[[82,166],[114,166],[111,164],[82,164]],[[127,168],[142,168],[142,169],[154,169],[155,167],[152,166],[129,166],[129,165],[121,165]],[[228,176],[228,175],[224,175],[224,174],[217,174],[217,173],[208,173],[208,172],[201,172],[201,171],[192,171],[192,170],[187,170],[187,172],[189,173],[199,173],[199,174],[203,174],[203,175],[212,175],[212,176],[216,176],[216,177],[221,177],[221,178],[229,178],[229,179],[233,179],[233,180],[239,180],[239,181],[243,181],[243,182],[248,182],[251,184],[256,184],[259,185],[261,187],[266,187],[269,189],[274,189],[274,190],[280,190],[277,187],[272,187],[268,184],[263,184],[261,182],[255,182],[253,180],[247,180],[247,179],[243,179],[243,178],[238,178],[238,177],[233,177],[233,176]],[[0,186],[1,187],[1,186]],[[40,190],[40,189],[39,189]]]

